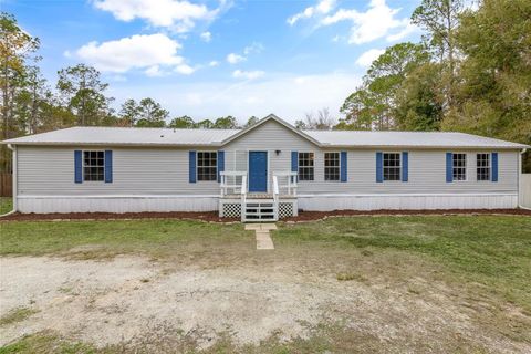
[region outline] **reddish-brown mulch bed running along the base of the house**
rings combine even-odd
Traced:
[[[299,216],[284,218],[282,221],[312,221],[329,217],[348,216],[413,216],[413,215],[519,215],[531,216],[527,209],[438,209],[438,210],[332,210],[332,211],[299,211]],[[220,218],[217,211],[208,212],[52,212],[21,214],[15,212],[0,217],[1,221],[40,221],[40,220],[136,220],[136,219],[178,219],[202,220],[208,222],[238,222],[239,218]]]

